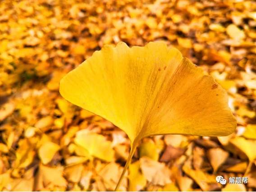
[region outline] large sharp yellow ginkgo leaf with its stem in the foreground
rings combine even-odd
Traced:
[[[60,81],[71,103],[125,131],[131,151],[144,137],[164,134],[225,136],[236,127],[228,96],[211,76],[164,43],[129,48],[105,45]]]

